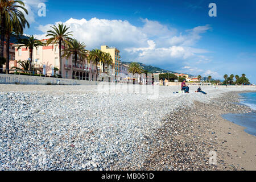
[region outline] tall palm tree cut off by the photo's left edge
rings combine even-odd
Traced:
[[[6,35],[6,22],[17,22],[18,20],[24,20],[23,11],[28,14],[26,8],[24,8],[22,1],[0,1],[0,13],[1,13],[1,28],[0,28],[0,62],[3,62],[3,49]],[[15,20],[16,19],[16,20]],[[0,72],[2,72],[3,65],[0,63]]]

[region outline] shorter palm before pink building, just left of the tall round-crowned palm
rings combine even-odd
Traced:
[[[28,39],[19,39],[18,42],[20,43],[20,45],[18,46],[17,49],[24,46],[26,47],[26,49],[28,48],[30,51],[30,71],[32,71],[33,49],[34,47],[38,49],[38,46],[44,46],[44,44],[40,40],[36,40],[34,38],[34,35],[28,36]]]

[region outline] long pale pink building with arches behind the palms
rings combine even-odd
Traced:
[[[45,43],[48,39],[40,40]],[[21,47],[17,49],[19,45],[15,45],[15,59],[17,61],[28,60],[29,50],[26,47]],[[64,49],[64,46],[61,47]],[[38,68],[42,73],[47,76],[54,74],[53,68],[60,69],[59,65],[59,46],[55,44],[49,44],[49,46],[39,46],[37,49],[33,49],[32,63],[35,64],[35,68]],[[61,76],[63,78],[78,78],[80,80],[96,80],[96,66],[92,63],[87,63],[86,60],[77,60],[77,65],[71,57],[63,57],[61,64]],[[59,71],[56,72],[57,74]],[[100,69],[98,69],[100,73]]]

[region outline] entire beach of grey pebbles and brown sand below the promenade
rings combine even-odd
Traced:
[[[256,170],[256,137],[221,118],[254,112],[236,102],[256,87],[189,87],[0,85],[0,170]]]

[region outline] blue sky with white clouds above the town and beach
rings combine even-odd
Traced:
[[[256,82],[256,1],[24,1],[31,28],[44,38],[53,24],[71,27],[88,49],[118,47],[121,60],[192,75],[245,73]],[[46,17],[37,15],[46,4]],[[217,17],[210,17],[209,3]]]

